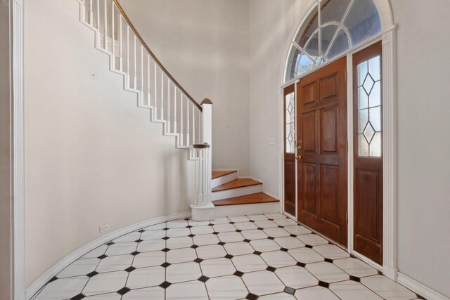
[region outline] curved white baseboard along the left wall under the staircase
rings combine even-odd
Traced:
[[[49,282],[51,278],[60,273],[60,271],[63,270],[63,268],[68,266],[73,261],[79,259],[79,257],[83,256],[84,254],[95,249],[96,247],[105,244],[105,242],[114,240],[117,237],[130,233],[131,231],[139,230],[141,228],[145,228],[162,222],[188,218],[189,216],[191,216],[191,211],[182,212],[179,214],[169,214],[168,216],[159,216],[158,218],[142,221],[130,226],[126,226],[124,228],[120,228],[118,230],[113,231],[112,233],[102,235],[101,237],[98,237],[98,239],[93,240],[87,244],[84,244],[84,246],[82,246],[81,248],[75,250],[68,256],[65,256],[63,259],[58,261],[58,263],[56,263],[55,266],[51,267],[49,270],[46,271],[46,273],[42,274],[41,277],[39,277],[36,281],[34,281],[30,285],[30,287],[27,288],[26,299],[31,299],[32,296],[34,296],[34,294],[36,294],[39,291],[39,289],[41,289],[41,287],[43,287],[47,282]]]

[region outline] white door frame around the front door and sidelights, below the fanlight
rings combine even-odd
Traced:
[[[371,39],[364,41],[363,43],[349,49],[340,56],[329,60],[328,62],[321,65],[324,67],[330,63],[334,63],[336,60],[347,56],[347,136],[351,137],[353,135],[353,54],[371,46],[378,41],[382,41],[383,44],[383,58],[382,58],[382,103],[383,103],[383,266],[375,263],[366,256],[359,254],[354,251],[353,248],[353,238],[354,238],[354,143],[352,138],[348,138],[349,151],[347,152],[347,199],[348,199],[348,224],[347,224],[347,252],[358,257],[362,261],[365,261],[370,266],[380,270],[388,278],[392,280],[397,280],[397,91],[395,87],[396,83],[396,34],[397,25],[392,25],[380,34],[376,34]],[[302,76],[297,77],[291,81],[286,82],[280,86],[281,95],[283,95],[283,89],[286,86],[295,84],[302,80],[302,78],[308,76],[312,72],[318,69],[310,70],[305,72]],[[284,71],[284,70],[283,70]],[[284,72],[281,75],[281,81],[283,82]],[[281,96],[280,98],[282,98]],[[297,89],[295,89],[295,101],[297,105]],[[283,111],[283,103],[281,103],[281,113]],[[283,118],[282,118],[283,119]],[[297,122],[296,122],[297,123]],[[284,130],[282,124],[279,127]],[[295,127],[297,132],[297,125]],[[284,136],[284,132],[281,132],[281,136]],[[280,141],[280,149],[283,148],[284,139]],[[283,151],[282,151],[283,153]],[[295,152],[297,155],[297,151]],[[283,155],[281,155],[280,160],[280,195],[283,199],[284,204],[284,160]],[[297,171],[297,166],[296,166]],[[297,173],[296,175],[297,176]],[[297,180],[295,183],[295,204],[298,207],[298,187]],[[282,204],[282,209],[284,211],[284,206]],[[295,214],[295,219],[297,220],[297,212]]]

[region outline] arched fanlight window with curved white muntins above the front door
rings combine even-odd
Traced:
[[[285,81],[381,32],[373,0],[317,0],[290,46]]]

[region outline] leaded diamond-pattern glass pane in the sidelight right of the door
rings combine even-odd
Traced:
[[[357,66],[359,156],[381,156],[380,63],[376,56]]]

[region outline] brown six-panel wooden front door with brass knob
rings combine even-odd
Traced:
[[[347,58],[297,85],[298,219],[347,247]]]

